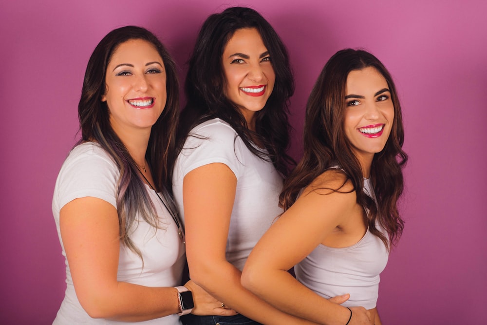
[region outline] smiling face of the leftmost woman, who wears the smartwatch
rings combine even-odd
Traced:
[[[150,128],[166,106],[166,71],[156,48],[142,39],[121,43],[105,78],[110,124],[120,134]]]

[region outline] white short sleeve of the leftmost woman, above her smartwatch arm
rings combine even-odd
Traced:
[[[57,177],[53,209],[81,197],[96,197],[117,207],[119,171],[105,151],[93,143],[77,146],[65,160]]]

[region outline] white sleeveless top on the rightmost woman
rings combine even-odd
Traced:
[[[375,198],[368,179],[364,191]],[[382,240],[367,229],[363,238],[350,247],[337,249],[320,244],[294,269],[296,278],[320,296],[329,299],[350,293],[343,306],[372,309],[377,304],[380,273],[388,257]]]

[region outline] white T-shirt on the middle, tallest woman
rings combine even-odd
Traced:
[[[174,168],[173,191],[183,220],[183,179],[211,163],[227,165],[237,178],[226,259],[242,270],[257,241],[282,213],[278,206],[282,177],[272,163],[251,153],[226,122],[206,121],[190,132]]]

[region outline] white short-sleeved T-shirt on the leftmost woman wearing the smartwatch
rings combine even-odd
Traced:
[[[69,154],[57,177],[53,197],[53,214],[57,234],[66,257],[59,229],[59,210],[70,201],[81,197],[96,197],[112,204],[116,209],[116,188],[119,171],[111,157],[93,142],[78,145]],[[185,263],[185,248],[178,236],[177,227],[169,212],[164,208],[155,192],[148,186],[160,227],[154,229],[147,222],[137,218],[130,238],[142,253],[138,255],[120,245],[117,280],[147,287],[175,287],[181,283]],[[66,293],[57,312],[54,324],[127,324],[105,319],[91,318],[79,304],[73,280],[66,260]],[[167,317],[133,324],[179,325],[179,316]]]

